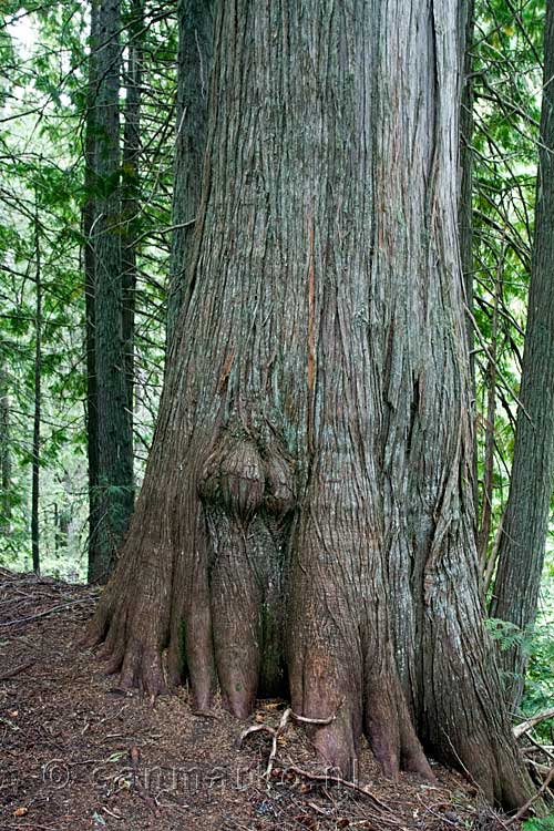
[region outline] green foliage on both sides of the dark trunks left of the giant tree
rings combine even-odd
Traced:
[[[153,434],[165,352],[165,274],[171,225],[177,30],[175,8],[146,3],[136,196],[125,219],[137,245],[136,478]],[[43,571],[86,573],[86,366],[84,348],[83,123],[88,105],[89,6],[78,0],[3,2],[0,9],[0,388],[9,425],[0,435],[10,475],[0,482],[0,564],[30,568],[30,484],[37,238],[42,277],[40,530]],[[133,29],[134,27],[134,29]],[[122,33],[125,44],[129,33]],[[122,55],[125,83],[126,48]],[[124,98],[122,96],[122,110]],[[123,117],[122,117],[123,127]],[[116,177],[119,181],[120,176]],[[98,183],[113,188],[117,182]],[[38,235],[37,235],[37,225]],[[122,234],[122,237],[124,235]],[[3,380],[2,380],[3,379]],[[4,483],[6,484],[6,483]]]

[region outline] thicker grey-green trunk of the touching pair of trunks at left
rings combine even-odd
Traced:
[[[123,340],[119,0],[101,0],[96,24],[98,49],[91,60],[96,78],[93,239],[99,523],[96,561],[89,573],[93,581],[103,582],[133,511],[133,437]]]

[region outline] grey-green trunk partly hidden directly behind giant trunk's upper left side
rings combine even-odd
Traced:
[[[167,296],[167,350],[188,295],[188,264],[202,195],[208,88],[214,51],[215,0],[179,0],[172,246]]]

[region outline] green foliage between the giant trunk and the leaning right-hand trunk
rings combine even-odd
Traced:
[[[523,355],[543,27],[544,3],[538,0],[515,4],[476,0],[472,49],[475,380],[481,511],[490,501],[493,532],[507,497]],[[492,493],[485,493],[488,429],[494,431]]]

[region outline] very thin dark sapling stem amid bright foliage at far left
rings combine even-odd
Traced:
[[[41,381],[42,381],[42,265],[40,250],[39,208],[34,215],[34,417],[33,417],[33,455],[32,455],[32,496],[31,496],[31,547],[33,572],[40,572],[40,428],[41,428]]]

